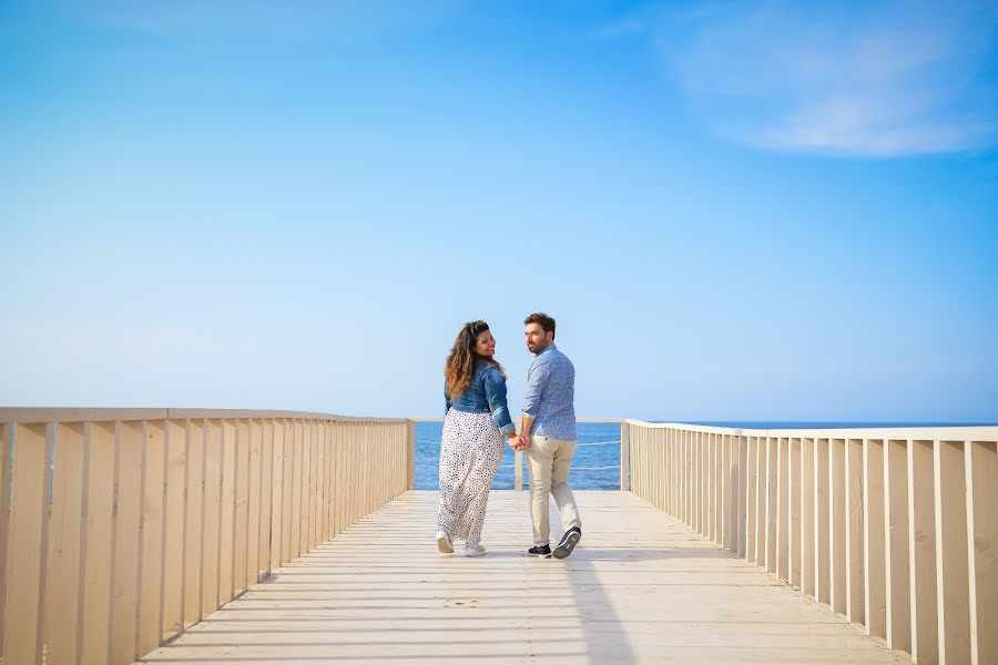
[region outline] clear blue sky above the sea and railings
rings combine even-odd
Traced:
[[[0,3],[0,403],[998,421],[998,11]]]

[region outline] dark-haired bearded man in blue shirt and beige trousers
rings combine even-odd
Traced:
[[[576,368],[554,346],[554,319],[531,314],[523,321],[527,349],[536,358],[527,372],[523,422],[518,447],[527,450],[530,478],[530,516],[533,521],[531,556],[564,559],[582,539],[576,498],[568,487],[576,456]],[[564,534],[551,550],[549,495],[554,497]]]

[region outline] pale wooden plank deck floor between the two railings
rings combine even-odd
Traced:
[[[142,662],[909,662],[633,494],[576,495],[557,561],[523,554],[527,493],[492,492],[468,559],[436,551],[437,493],[407,492]]]

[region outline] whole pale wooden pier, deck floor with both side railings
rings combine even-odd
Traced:
[[[998,662],[998,428],[624,421],[566,561],[437,552],[414,428],[0,409],[0,663]]]

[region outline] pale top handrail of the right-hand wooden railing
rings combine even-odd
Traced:
[[[890,439],[899,441],[971,441],[998,439],[998,424],[754,429],[744,427],[690,424],[684,422],[648,422],[634,418],[624,419],[622,422],[649,429],[678,429],[688,432],[707,432],[711,434],[783,439]]]

